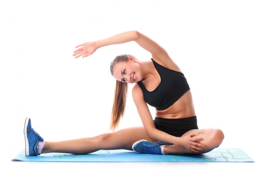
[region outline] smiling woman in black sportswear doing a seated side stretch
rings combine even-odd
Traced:
[[[116,79],[110,128],[115,130],[124,114],[127,83],[136,83],[132,97],[144,127],[126,128],[95,137],[68,141],[44,141],[25,121],[26,156],[48,152],[86,154],[97,150],[126,149],[151,154],[205,153],[224,139],[219,129],[198,129],[189,84],[180,68],[156,42],[138,31],[128,31],[95,42],[76,46],[73,56],[87,57],[112,44],[135,41],[151,53],[151,61],[142,62],[132,55],[117,56],[110,71]],[[147,104],[156,108],[152,119]],[[161,141],[161,142],[157,142]]]

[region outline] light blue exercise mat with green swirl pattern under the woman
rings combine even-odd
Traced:
[[[254,162],[240,149],[215,148],[205,154],[151,155],[130,150],[99,150],[85,155],[47,153],[26,157],[25,150],[11,161],[38,162]]]

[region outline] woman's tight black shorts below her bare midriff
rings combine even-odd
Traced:
[[[183,119],[164,119],[155,117],[155,128],[175,137],[181,137],[184,133],[192,129],[198,129],[196,116]]]

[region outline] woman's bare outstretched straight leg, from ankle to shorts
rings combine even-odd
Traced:
[[[95,137],[49,142],[45,141],[42,153],[61,152],[87,154],[97,150],[126,149],[132,150],[132,144],[141,139],[155,142],[150,138],[144,127],[133,127],[117,132],[105,133]]]

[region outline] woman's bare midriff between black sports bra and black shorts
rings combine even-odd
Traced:
[[[155,115],[164,119],[182,119],[195,116],[191,91],[186,91],[180,99],[165,110],[156,109]]]

